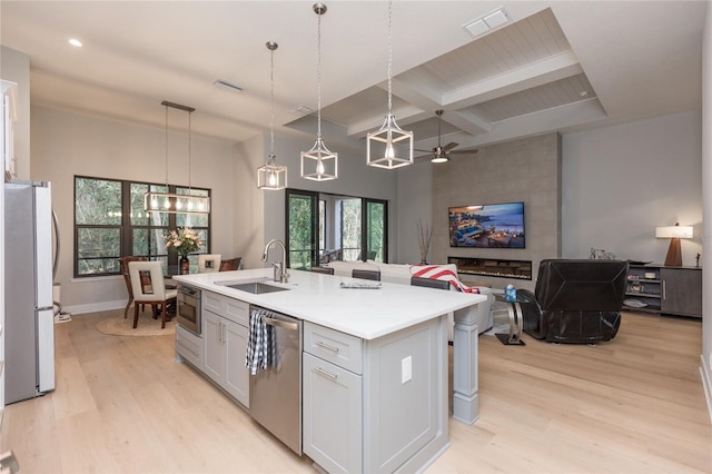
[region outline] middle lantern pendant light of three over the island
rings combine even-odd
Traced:
[[[314,181],[327,181],[338,177],[338,154],[329,151],[322,139],[322,16],[326,13],[324,3],[312,7],[317,14],[317,135],[309,151],[301,152],[301,177]]]

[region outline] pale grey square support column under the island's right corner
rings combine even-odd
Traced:
[[[479,417],[477,396],[477,312],[478,305],[454,314],[453,418],[472,425]]]

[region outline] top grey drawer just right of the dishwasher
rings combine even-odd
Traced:
[[[364,372],[364,342],[358,337],[305,322],[304,352],[355,374]]]

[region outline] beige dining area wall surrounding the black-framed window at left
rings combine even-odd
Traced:
[[[158,103],[157,108],[160,113]],[[52,201],[61,231],[62,251],[56,279],[62,285],[61,303],[70,313],[122,307],[127,296],[121,277],[72,277],[73,178],[82,175],[165,182],[166,130],[42,107],[32,107],[31,121],[31,176],[52,182]],[[212,190],[210,250],[231,256],[235,253],[233,145],[195,135],[191,141],[190,184]],[[187,134],[170,132],[168,144],[168,180],[188,185]]]

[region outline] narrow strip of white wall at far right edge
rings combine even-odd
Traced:
[[[712,419],[712,6],[708,2],[702,39],[702,186],[704,231],[702,245],[702,355],[700,367],[705,382],[708,409]]]

